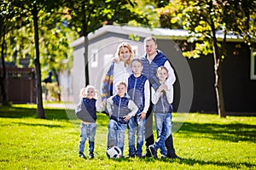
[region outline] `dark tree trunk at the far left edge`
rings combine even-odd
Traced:
[[[3,31],[4,30],[5,30],[5,27],[3,27]],[[3,103],[3,105],[8,105],[5,86],[4,86],[4,81],[6,79],[6,68],[5,68],[5,61],[4,61],[4,43],[5,43],[5,33],[3,33],[3,42],[1,44],[1,46],[2,46],[1,59],[2,59],[2,65],[3,65],[3,77],[1,77],[1,79],[0,79],[0,81],[1,81],[0,86],[1,86],[1,93],[2,93],[2,103]]]

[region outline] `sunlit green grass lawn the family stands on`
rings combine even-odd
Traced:
[[[112,160],[106,156],[108,117],[99,113],[95,159],[84,160],[73,110],[45,108],[46,119],[36,112],[36,105],[0,107],[1,169],[256,169],[255,116],[174,114],[174,146],[182,159]]]

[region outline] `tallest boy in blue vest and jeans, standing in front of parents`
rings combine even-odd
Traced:
[[[137,105],[137,115],[131,117],[128,123],[129,155],[126,157],[142,157],[145,116],[150,103],[150,88],[148,78],[142,74],[141,59],[132,59],[133,74],[128,78],[128,94]],[[137,149],[135,148],[135,131],[137,130]]]

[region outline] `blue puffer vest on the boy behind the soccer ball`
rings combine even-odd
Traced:
[[[124,97],[119,97],[119,95],[113,96],[113,112],[110,116],[110,119],[113,119],[116,122],[127,124],[127,122],[124,121],[123,116],[127,116],[131,110],[128,108],[129,104],[129,96],[125,94]]]

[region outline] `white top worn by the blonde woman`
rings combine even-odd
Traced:
[[[124,61],[119,61],[113,65],[113,95],[115,94],[115,84],[119,81],[128,83],[128,77],[132,74],[129,66],[125,67]]]

